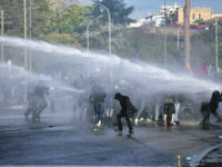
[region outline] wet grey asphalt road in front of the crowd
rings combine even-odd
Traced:
[[[112,125],[93,131],[69,114],[42,114],[41,122],[23,118],[22,108],[1,108],[0,165],[178,166],[222,141],[222,125],[164,127],[149,122],[135,134]],[[178,156],[181,156],[181,163]],[[198,164],[196,164],[198,165]]]

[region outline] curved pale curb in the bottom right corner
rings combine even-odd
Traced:
[[[219,148],[219,147],[222,147],[222,144],[218,144],[215,146],[212,146],[210,148],[206,148],[204,149],[203,151],[201,151],[200,154],[198,155],[194,155],[192,156],[192,160],[190,163],[190,167],[196,167],[200,165],[201,160],[209,154],[211,153],[212,150]]]

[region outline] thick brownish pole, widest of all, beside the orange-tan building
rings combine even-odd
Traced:
[[[191,10],[191,0],[185,0],[184,9],[184,53],[185,53],[185,67],[190,66],[190,10]]]

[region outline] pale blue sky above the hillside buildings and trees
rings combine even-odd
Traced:
[[[133,19],[142,19],[150,14],[158,13],[160,7],[164,4],[164,0],[123,0],[127,6],[134,6],[134,11],[130,16]],[[174,3],[184,6],[185,0],[165,0],[165,6]],[[222,13],[222,0],[191,0],[192,7],[211,7],[213,13]],[[90,0],[83,0],[83,3],[90,3]]]

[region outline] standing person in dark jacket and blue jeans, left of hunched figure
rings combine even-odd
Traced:
[[[107,92],[103,87],[94,84],[91,89],[91,95],[89,99],[93,102],[94,112],[95,112],[95,124],[98,127],[101,126],[102,118],[104,115],[104,99],[107,97]]]

